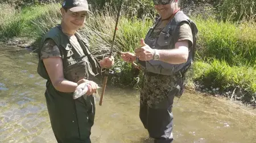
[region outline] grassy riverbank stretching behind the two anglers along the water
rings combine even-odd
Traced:
[[[16,10],[5,7],[5,17],[0,23],[1,37],[5,44],[37,48],[40,37],[60,22],[58,4],[25,7]],[[13,12],[16,11],[16,12]],[[152,16],[142,19],[131,18],[122,12],[114,46],[117,50],[134,51],[139,39],[144,37],[152,25]],[[214,18],[193,17],[199,28],[197,55],[193,68],[188,73],[187,88],[200,90],[213,96],[224,96],[245,103],[254,103],[256,97],[256,29],[253,21],[239,24],[218,21]],[[115,23],[115,12],[106,7],[105,11],[94,11],[86,18],[86,26],[80,32],[90,38],[90,51],[98,57],[106,56],[110,50]],[[104,25],[104,27],[102,27]],[[102,38],[100,38],[100,35]],[[16,38],[14,38],[16,37]],[[113,77],[112,84],[139,88],[142,72],[134,74],[130,64],[117,55],[114,68],[121,68],[121,76]],[[138,72],[137,72],[138,74]]]

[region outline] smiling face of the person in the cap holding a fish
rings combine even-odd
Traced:
[[[84,26],[85,16],[87,15],[86,11],[72,12],[67,10],[67,12],[63,11],[62,13],[63,21],[69,29],[77,30]]]

